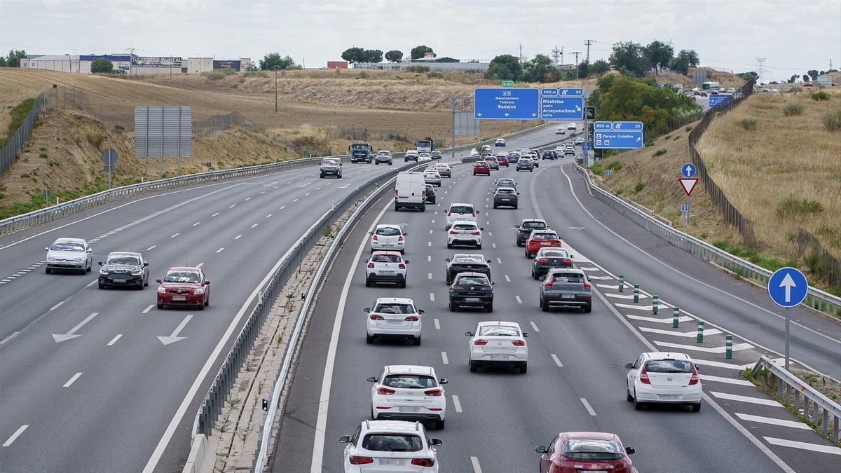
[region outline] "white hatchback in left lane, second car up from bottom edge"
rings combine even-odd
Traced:
[[[447,378],[438,378],[430,366],[393,364],[368,378],[371,386],[371,417],[433,421],[444,428],[447,415]]]

